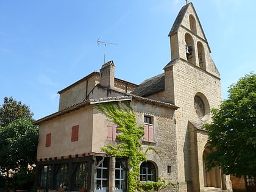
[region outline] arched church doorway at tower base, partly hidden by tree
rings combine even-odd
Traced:
[[[202,157],[204,166],[204,187],[214,187],[221,190],[226,190],[225,175],[222,174],[221,169],[218,166],[215,166],[214,168],[210,169],[210,171],[207,171],[205,168],[205,155],[211,151],[212,149],[207,146],[204,149],[204,154]]]

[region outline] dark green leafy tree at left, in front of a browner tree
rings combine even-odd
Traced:
[[[19,118],[7,127],[0,127],[0,165],[1,174],[9,179],[9,171],[21,174],[26,169],[30,175],[30,166],[34,165],[37,157],[38,126],[32,118]],[[24,175],[24,174],[23,174]],[[25,181],[27,178],[23,177]],[[16,182],[21,182],[18,180]]]

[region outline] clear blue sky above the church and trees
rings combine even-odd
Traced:
[[[222,98],[231,84],[256,71],[255,0],[194,0]],[[185,0],[0,1],[0,104],[29,105],[34,118],[57,112],[59,94],[114,60],[115,76],[140,84],[171,60],[168,33]]]

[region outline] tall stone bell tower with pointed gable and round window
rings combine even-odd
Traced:
[[[177,105],[176,134],[180,191],[206,188],[232,191],[229,176],[219,168],[205,172],[208,152],[207,131],[210,109],[218,107],[221,83],[204,30],[190,2],[180,10],[169,32],[171,62],[165,70],[165,99]]]

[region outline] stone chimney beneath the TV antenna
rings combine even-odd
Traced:
[[[99,84],[102,87],[114,88],[115,82],[115,64],[113,60],[102,65],[99,70]]]

